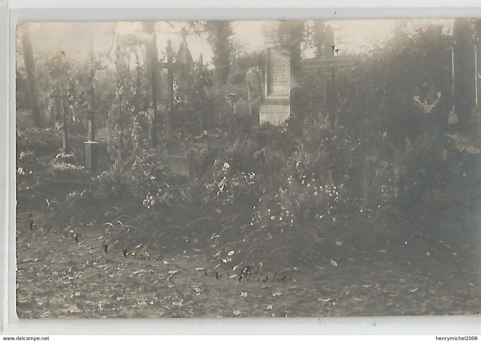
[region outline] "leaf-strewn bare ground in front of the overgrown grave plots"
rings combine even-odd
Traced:
[[[360,257],[240,280],[239,271],[207,261],[199,244],[150,254],[142,246],[105,250],[102,227],[72,233],[47,225],[41,212],[21,209],[16,233],[20,318],[481,313],[480,246],[474,240],[451,245],[417,235]]]

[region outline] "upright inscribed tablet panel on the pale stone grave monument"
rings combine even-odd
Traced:
[[[267,49],[267,95],[289,96],[287,58],[275,48]]]

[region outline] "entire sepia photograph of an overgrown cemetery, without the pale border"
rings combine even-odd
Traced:
[[[18,23],[17,316],[481,314],[480,34]]]

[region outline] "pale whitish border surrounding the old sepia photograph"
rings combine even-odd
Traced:
[[[0,161],[0,335],[220,333],[236,335],[430,334],[438,336],[464,336],[481,334],[481,316],[221,319],[164,318],[142,320],[116,319],[108,321],[18,320],[15,317],[15,120],[13,110],[13,80],[15,72],[13,30],[15,23],[17,21],[27,20],[84,21],[149,19],[481,17],[480,5],[475,0],[407,0],[402,3],[396,3],[392,0],[365,0],[362,3],[345,0],[328,0],[322,1],[324,9],[315,8],[320,4],[320,1],[315,0],[297,0],[295,2],[292,0],[239,0],[236,2],[228,2],[225,0],[177,0],[168,2],[141,0],[12,0],[8,2],[8,7],[10,9],[7,10],[6,2],[0,0],[0,116],[2,122],[2,124],[0,124],[0,136],[2,138],[0,143],[0,160],[2,160]],[[173,8],[174,6],[176,9]],[[293,9],[293,6],[297,9]],[[353,9],[353,7],[360,6],[371,8]],[[395,8],[400,6],[403,8]],[[436,6],[436,8],[430,8],[434,6]],[[475,6],[478,6],[478,8],[475,8]],[[146,10],[146,8],[152,7],[157,9]],[[168,7],[170,7],[170,9],[167,9]],[[63,10],[59,10],[59,8],[63,8]],[[91,10],[91,8],[97,9]],[[10,44],[8,44],[8,49],[4,49],[4,47],[7,46],[7,37],[10,39]],[[9,77],[7,77],[7,75]],[[7,78],[9,78],[9,80]],[[7,107],[7,105],[9,107]],[[11,176],[8,177],[8,174],[11,174]],[[9,304],[7,304],[7,302]],[[426,338],[426,340],[435,339],[429,337]]]

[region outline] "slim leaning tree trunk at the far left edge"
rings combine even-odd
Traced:
[[[38,104],[38,89],[35,80],[35,61],[33,59],[32,44],[30,42],[30,33],[28,32],[28,24],[22,26],[22,48],[24,50],[25,70],[27,74],[28,92],[30,97],[30,107],[32,108],[32,119],[36,127],[44,127],[43,117],[40,114]]]

